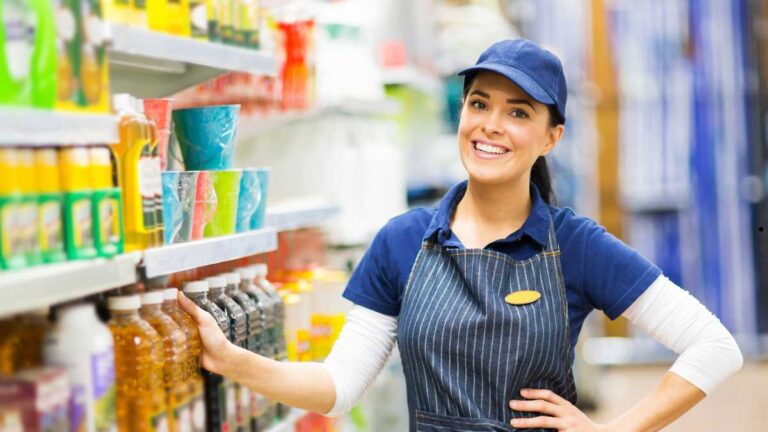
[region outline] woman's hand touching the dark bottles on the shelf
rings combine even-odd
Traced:
[[[223,375],[234,345],[227,340],[211,314],[200,309],[181,291],[179,291],[178,300],[181,309],[195,320],[200,332],[200,340],[203,344],[200,353],[201,365],[209,372]]]

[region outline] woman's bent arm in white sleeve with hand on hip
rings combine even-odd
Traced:
[[[607,425],[589,420],[548,390],[523,393],[528,400],[510,407],[546,416],[521,419],[516,427],[552,427],[574,431],[657,431],[670,424],[741,368],[736,341],[720,321],[694,297],[660,276],[624,316],[667,348],[681,354],[659,385],[629,411]]]

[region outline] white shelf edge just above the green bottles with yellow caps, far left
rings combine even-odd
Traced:
[[[109,144],[117,141],[117,117],[5,107],[0,146]]]

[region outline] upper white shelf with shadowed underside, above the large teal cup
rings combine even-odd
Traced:
[[[112,93],[161,97],[225,72],[277,73],[273,55],[221,43],[111,24]]]

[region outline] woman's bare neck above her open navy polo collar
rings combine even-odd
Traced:
[[[485,247],[523,226],[532,207],[529,180],[514,184],[467,185],[451,228],[465,247]]]

